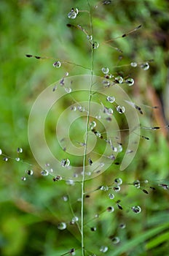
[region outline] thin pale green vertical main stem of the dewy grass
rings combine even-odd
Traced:
[[[89,0],[87,0],[87,4],[90,9],[90,3]],[[93,35],[93,26],[92,26],[92,16],[90,13],[90,27],[92,30]],[[90,77],[90,94],[88,99],[88,111],[87,111],[87,122],[86,122],[86,129],[85,129],[85,138],[84,138],[84,155],[83,155],[83,170],[82,170],[82,202],[81,202],[81,241],[82,241],[82,256],[84,256],[84,182],[85,182],[85,163],[86,163],[86,155],[87,155],[87,135],[88,135],[88,129],[89,129],[89,121],[90,121],[90,105],[91,105],[91,99],[92,99],[92,86],[93,86],[93,45],[91,45],[91,77]]]

